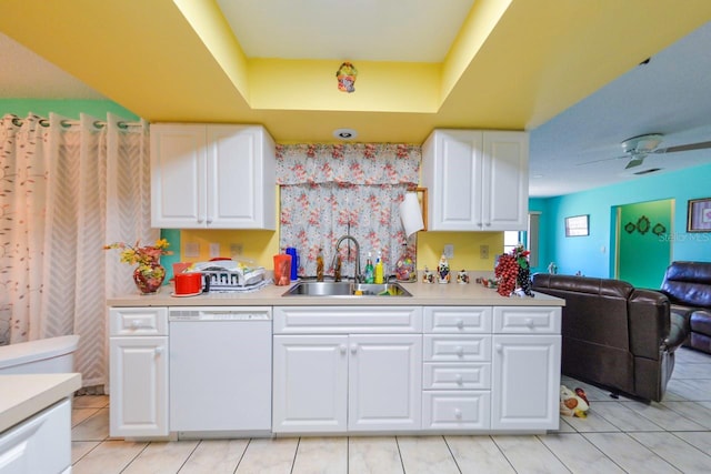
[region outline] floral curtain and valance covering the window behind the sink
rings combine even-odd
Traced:
[[[414,254],[414,236],[405,240],[399,204],[419,180],[421,149],[392,143],[280,144],[280,248],[299,250],[299,275],[316,274],[322,249],[326,273],[332,274],[336,243],[352,235],[360,244],[361,272],[370,252],[382,252],[392,274],[402,252]],[[405,245],[407,244],[407,245]],[[350,240],[340,246],[342,275],[356,261]]]

